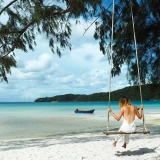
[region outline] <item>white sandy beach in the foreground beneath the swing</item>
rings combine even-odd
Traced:
[[[159,135],[132,135],[126,149],[103,133],[0,142],[0,160],[160,160]]]

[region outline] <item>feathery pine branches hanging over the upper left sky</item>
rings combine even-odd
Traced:
[[[7,1],[8,2],[8,1]],[[101,0],[12,0],[0,1],[0,77],[16,67],[13,52],[28,52],[36,46],[36,36],[45,35],[51,51],[61,56],[65,48],[71,50],[70,19],[93,17]]]

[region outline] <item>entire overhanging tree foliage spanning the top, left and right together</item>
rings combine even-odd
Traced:
[[[100,50],[110,59],[112,24],[109,0],[0,0],[0,77],[7,81],[7,73],[16,67],[16,50],[34,50],[36,36],[44,34],[53,53],[61,56],[71,49],[71,19],[97,18],[93,36],[99,40]],[[160,83],[160,1],[115,0],[113,76],[128,67],[127,78],[137,83],[137,67],[132,31],[130,2],[133,8],[139,66],[142,84]],[[112,3],[112,2],[111,2]],[[107,3],[108,4],[108,3]],[[112,5],[110,5],[112,6]]]

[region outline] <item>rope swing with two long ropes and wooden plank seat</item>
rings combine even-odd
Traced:
[[[111,101],[111,81],[112,81],[112,67],[113,67],[113,25],[114,25],[114,0],[112,5],[112,32],[111,32],[111,46],[110,46],[110,85],[109,85],[109,99],[108,99],[108,108],[110,108],[110,101]],[[132,10],[132,3],[130,0],[130,8],[131,8],[131,16],[132,16],[132,25],[133,25],[133,35],[134,35],[134,46],[135,46],[135,52],[136,52],[136,61],[137,61],[137,70],[138,70],[138,83],[139,83],[139,91],[140,91],[140,99],[141,99],[141,105],[142,103],[142,89],[141,89],[141,80],[140,80],[140,72],[139,72],[139,61],[138,61],[138,53],[137,53],[137,43],[136,43],[136,34],[135,34],[135,27],[134,27],[134,18],[133,18],[133,10]],[[143,132],[136,132],[136,133],[150,133],[147,131],[145,126],[145,118],[144,118],[144,111],[142,111],[142,117],[143,117]],[[109,132],[109,112],[108,112],[108,119],[107,119],[107,132]],[[107,134],[106,132],[106,134]],[[114,132],[113,134],[116,134]]]

